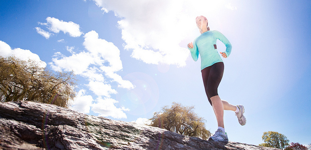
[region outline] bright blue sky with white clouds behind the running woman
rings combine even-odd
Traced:
[[[71,109],[141,122],[175,101],[214,133],[200,59],[186,47],[201,15],[233,47],[218,91],[244,105],[247,123],[225,112],[229,140],[258,145],[275,131],[311,143],[310,0],[1,0],[0,54],[74,70]]]

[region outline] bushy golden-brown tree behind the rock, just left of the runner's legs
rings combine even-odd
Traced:
[[[206,140],[211,133],[205,128],[205,120],[193,112],[194,107],[184,107],[173,102],[171,108],[162,107],[162,112],[155,112],[150,126],[159,127],[187,136],[196,136]]]

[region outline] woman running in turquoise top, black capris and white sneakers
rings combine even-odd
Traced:
[[[246,118],[243,116],[244,107],[242,105],[231,105],[227,101],[221,100],[218,96],[217,88],[223,78],[224,62],[217,52],[216,41],[219,39],[225,44],[226,50],[220,52],[224,58],[230,55],[232,46],[222,33],[209,30],[206,17],[196,17],[195,21],[201,35],[193,43],[189,43],[188,48],[194,61],[198,60],[199,54],[201,56],[201,72],[205,92],[209,103],[213,107],[218,123],[218,130],[208,140],[228,141],[227,133],[225,133],[224,110],[234,111],[241,125],[245,125],[246,123]]]

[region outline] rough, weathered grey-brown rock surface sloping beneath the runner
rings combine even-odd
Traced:
[[[52,104],[0,102],[3,150],[278,150],[213,142]]]

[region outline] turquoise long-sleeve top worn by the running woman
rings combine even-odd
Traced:
[[[231,43],[225,37],[224,34],[216,30],[202,33],[194,40],[193,48],[192,49],[188,48],[191,52],[191,56],[194,61],[198,60],[200,54],[201,70],[203,70],[206,67],[212,66],[215,63],[223,62],[223,59],[220,57],[220,55],[217,52],[217,49],[215,49],[214,47],[214,45],[216,45],[217,39],[219,39],[225,44],[226,47],[225,54],[228,57],[232,49]]]

